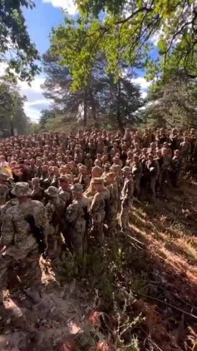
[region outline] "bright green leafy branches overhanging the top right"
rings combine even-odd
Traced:
[[[197,77],[197,5],[195,0],[77,0],[81,15],[66,19],[52,32],[54,54],[68,67],[73,89],[90,78],[91,68],[104,52],[108,71],[117,79],[119,60],[135,66],[144,62],[148,78],[183,68]],[[104,11],[104,14],[100,11]],[[154,36],[159,56],[150,55]]]

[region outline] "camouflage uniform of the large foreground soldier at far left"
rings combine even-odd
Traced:
[[[45,208],[39,201],[29,199],[24,204],[18,203],[5,212],[0,237],[0,245],[5,245],[0,255],[0,301],[2,301],[2,288],[7,281],[6,273],[10,264],[13,266],[13,261],[23,260],[26,263],[31,286],[37,287],[40,283],[38,244],[25,219],[29,215],[33,215],[37,227],[46,230]]]

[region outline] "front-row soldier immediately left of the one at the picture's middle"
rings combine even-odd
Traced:
[[[83,186],[74,184],[71,188],[73,201],[68,206],[65,218],[74,254],[82,255],[85,246],[88,198],[83,195]]]

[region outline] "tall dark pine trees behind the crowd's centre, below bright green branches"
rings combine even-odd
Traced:
[[[133,112],[142,106],[140,89],[131,82],[132,72],[121,63],[127,74],[114,81],[106,74],[106,59],[103,55],[95,61],[88,84],[72,90],[72,77],[65,66],[59,66],[60,58],[52,58],[49,52],[43,57],[46,80],[42,85],[44,96],[53,102],[53,108],[62,110],[66,121],[91,121],[99,124],[104,119],[108,124],[123,127],[133,117]],[[46,114],[42,114],[41,120]],[[48,117],[47,117],[48,118]]]

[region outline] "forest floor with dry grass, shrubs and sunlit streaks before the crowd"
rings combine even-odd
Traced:
[[[127,236],[106,234],[83,259],[41,259],[40,304],[15,268],[0,351],[197,350],[197,182],[135,206]]]

